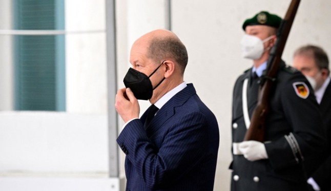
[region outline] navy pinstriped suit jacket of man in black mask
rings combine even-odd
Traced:
[[[126,154],[126,190],[213,190],[218,124],[193,84],[164,104],[145,130],[147,113],[117,138]]]

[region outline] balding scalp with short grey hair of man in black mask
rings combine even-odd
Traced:
[[[181,73],[184,72],[187,66],[187,50],[178,36],[169,30],[158,29],[144,34],[135,41],[132,49],[136,50],[138,47],[141,49],[140,51],[156,63],[172,59],[179,65]]]

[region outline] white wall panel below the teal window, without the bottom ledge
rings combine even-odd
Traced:
[[[1,174],[28,172],[107,176],[106,115],[2,112],[0,124]]]

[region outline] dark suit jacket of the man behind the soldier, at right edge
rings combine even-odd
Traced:
[[[327,158],[312,177],[320,186],[321,191],[324,191],[331,190],[331,82],[329,82],[324,92],[320,103],[320,111],[328,140]]]

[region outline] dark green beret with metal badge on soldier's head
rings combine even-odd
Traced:
[[[261,11],[252,18],[247,18],[242,25],[242,29],[245,30],[248,25],[266,25],[270,27],[278,28],[280,23],[282,22],[282,18],[275,15],[270,14],[266,11]]]

